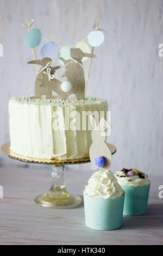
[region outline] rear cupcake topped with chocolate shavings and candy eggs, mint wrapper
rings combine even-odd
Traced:
[[[115,178],[126,192],[123,215],[143,215],[147,211],[149,188],[148,175],[137,169],[118,170]]]

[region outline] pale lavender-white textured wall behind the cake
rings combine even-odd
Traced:
[[[34,91],[33,59],[24,44],[27,17],[58,45],[73,45],[95,27],[108,31],[104,44],[95,49],[87,95],[109,102],[112,132],[117,147],[112,170],[136,167],[148,174],[162,172],[163,1],[160,0],[1,0],[0,144],[9,141],[8,101]],[[36,55],[40,57],[39,47]],[[161,123],[162,122],[162,123]],[[162,137],[161,137],[162,136]],[[21,164],[1,153],[1,164]],[[89,165],[73,168],[88,169]]]

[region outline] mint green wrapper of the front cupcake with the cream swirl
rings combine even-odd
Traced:
[[[86,196],[84,193],[85,224],[98,230],[120,228],[123,218],[124,197],[104,199]]]

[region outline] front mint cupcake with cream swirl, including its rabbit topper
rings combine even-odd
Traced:
[[[99,124],[91,115],[92,144],[90,147],[93,173],[83,191],[85,224],[99,230],[120,228],[123,218],[124,191],[110,171],[111,151],[106,144],[106,127],[110,124],[101,118]]]

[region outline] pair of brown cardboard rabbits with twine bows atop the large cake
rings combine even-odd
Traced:
[[[77,99],[84,99],[85,78],[84,67],[82,64],[83,57],[96,57],[95,54],[84,53],[79,48],[71,48],[71,59],[65,60],[60,58],[65,64],[66,71],[61,77],[67,77],[66,82],[61,82],[54,77],[54,73],[60,66],[52,67],[51,58],[43,58],[32,60],[29,64],[38,64],[42,68],[39,70],[35,81],[35,97],[46,95],[47,98],[52,98],[52,91],[57,93],[62,100],[66,100],[71,94],[75,94]]]

